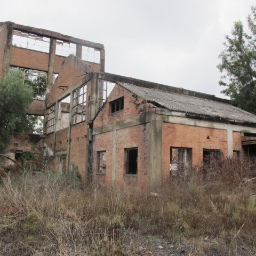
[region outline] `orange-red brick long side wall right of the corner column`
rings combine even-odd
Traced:
[[[207,136],[210,139],[206,139]],[[220,149],[227,156],[227,131],[163,123],[163,178],[170,177],[170,147],[192,148],[193,165],[201,165],[203,148]]]

